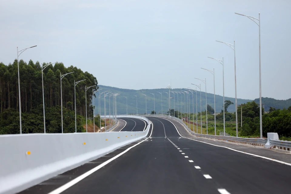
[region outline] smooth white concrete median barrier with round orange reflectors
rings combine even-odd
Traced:
[[[22,191],[104,156],[146,137],[149,127],[148,122],[141,132],[0,135],[0,193]]]

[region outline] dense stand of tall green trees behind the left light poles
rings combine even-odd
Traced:
[[[43,63],[46,65],[50,63]],[[22,110],[22,132],[43,132],[43,99],[42,99],[42,65],[39,62],[28,63],[19,60],[20,94]],[[70,73],[73,72],[73,73]],[[60,75],[70,73],[62,78],[62,105],[64,132],[75,131],[75,82],[85,79],[76,85],[76,111],[78,114],[78,131],[82,132],[82,119],[85,117],[85,100],[87,116],[92,114],[92,90],[98,89],[97,79],[77,67],[66,68],[63,63],[48,65],[43,70],[43,86],[47,132],[61,132],[61,79]],[[87,90],[85,86],[92,86]],[[0,134],[19,133],[18,103],[18,68],[17,60],[8,65],[0,63]]]

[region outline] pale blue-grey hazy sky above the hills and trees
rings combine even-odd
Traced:
[[[237,97],[259,97],[259,27],[238,12],[261,13],[262,96],[291,98],[289,0],[0,0],[0,62],[19,49],[26,62],[63,62],[92,73],[101,85],[125,89],[192,87],[207,81]],[[201,84],[202,91],[205,85]]]

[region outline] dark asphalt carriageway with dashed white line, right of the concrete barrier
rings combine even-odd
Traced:
[[[148,118],[147,138],[20,193],[290,193],[291,166],[184,138],[171,121]],[[130,119],[124,130],[143,129]]]

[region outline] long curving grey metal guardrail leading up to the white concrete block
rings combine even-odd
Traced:
[[[188,132],[190,132],[192,135],[195,135],[197,137],[219,139],[219,140],[225,140],[225,141],[235,142],[235,143],[250,144],[250,145],[254,145],[254,146],[264,146],[265,143],[267,142],[267,139],[260,139],[260,138],[243,138],[243,137],[232,137],[232,136],[198,134],[198,133],[193,132],[191,129],[189,129],[188,126],[181,119],[178,119],[178,118],[173,117],[173,116],[160,115],[160,114],[147,114],[147,115],[139,114],[139,115],[142,115],[142,116],[167,117],[167,118],[170,118],[170,119],[174,119],[174,120],[180,122],[185,127],[185,129],[188,130]],[[281,142],[283,142],[283,141],[281,141]],[[291,142],[290,142],[290,145],[291,145]]]

